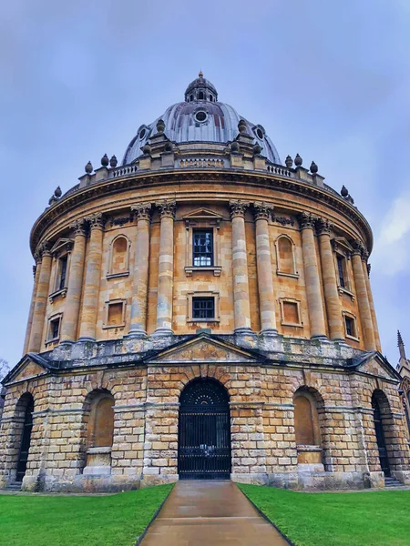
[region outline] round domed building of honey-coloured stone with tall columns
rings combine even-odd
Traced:
[[[30,241],[0,487],[410,483],[368,223],[202,74],[119,166],[57,188]]]

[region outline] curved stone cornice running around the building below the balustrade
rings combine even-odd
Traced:
[[[78,189],[77,191],[62,197],[37,218],[30,234],[30,248],[32,253],[36,245],[56,218],[74,210],[76,207],[92,202],[99,197],[107,197],[123,191],[132,191],[142,187],[160,187],[160,193],[164,193],[164,187],[172,184],[210,184],[230,183],[235,185],[248,185],[253,187],[268,187],[273,190],[284,191],[291,195],[300,195],[319,202],[331,209],[341,213],[350,219],[355,227],[361,229],[365,235],[367,249],[370,252],[373,248],[373,234],[371,227],[356,207],[339,197],[336,193],[322,187],[313,186],[300,179],[280,177],[268,173],[255,171],[241,171],[239,169],[224,170],[200,170],[172,169],[169,171],[139,171],[129,177],[109,178],[92,186]],[[243,194],[242,194],[243,195]],[[153,199],[154,200],[154,199]]]

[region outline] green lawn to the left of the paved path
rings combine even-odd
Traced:
[[[172,485],[108,496],[0,495],[1,546],[132,546]]]

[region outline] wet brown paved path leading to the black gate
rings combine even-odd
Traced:
[[[231,481],[179,481],[141,546],[286,546]]]

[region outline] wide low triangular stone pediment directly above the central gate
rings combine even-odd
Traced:
[[[150,363],[261,363],[265,359],[254,351],[236,347],[220,339],[200,335],[160,350],[146,361]]]

